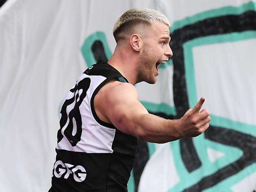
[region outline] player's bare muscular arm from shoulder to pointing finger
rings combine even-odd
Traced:
[[[202,98],[179,120],[166,120],[148,113],[138,100],[137,90],[130,83],[108,83],[95,98],[97,111],[120,131],[156,143],[195,137],[205,131],[210,117],[206,110],[199,112],[203,102]]]

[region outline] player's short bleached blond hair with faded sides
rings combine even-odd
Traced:
[[[168,18],[163,15],[163,13],[160,13],[154,9],[129,9],[128,11],[124,12],[115,22],[113,28],[113,35],[115,37],[115,41],[117,42],[119,40],[119,34],[121,32],[125,32],[136,24],[144,23],[150,25],[155,21],[160,21],[167,26],[170,26]]]

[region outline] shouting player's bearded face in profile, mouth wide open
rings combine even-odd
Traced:
[[[138,66],[138,80],[147,83],[156,83],[158,76],[158,66],[166,63],[173,52],[169,46],[169,27],[163,22],[156,21],[146,28],[143,33],[141,52]]]

